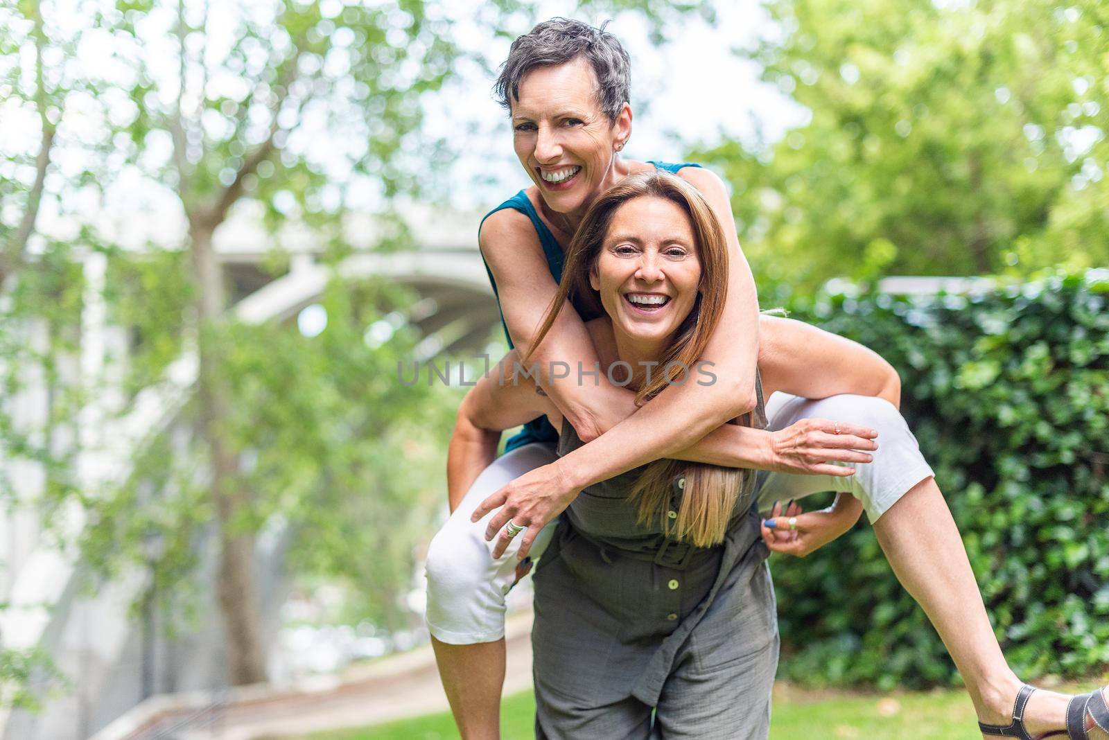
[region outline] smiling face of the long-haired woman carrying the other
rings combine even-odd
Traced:
[[[621,205],[589,282],[612,319],[618,346],[658,356],[693,309],[701,285],[689,215],[674,202],[650,195]]]

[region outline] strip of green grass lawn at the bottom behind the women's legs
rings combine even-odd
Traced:
[[[530,740],[535,699],[530,691],[502,703],[505,740]],[[974,708],[963,691],[899,695],[802,692],[775,688],[771,740],[981,740]],[[458,738],[449,713],[314,736],[314,740],[448,740]]]

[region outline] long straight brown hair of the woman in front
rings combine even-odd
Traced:
[[[601,195],[589,208],[566,251],[566,264],[558,292],[540,323],[528,357],[550,331],[568,300],[584,315],[602,316],[600,295],[589,285],[589,276],[604,246],[609,225],[617,210],[629,201],[657,197],[674,203],[689,216],[698,246],[701,280],[698,297],[689,316],[674,332],[674,340],[659,359],[663,372],[652,373],[650,382],[635,392],[642,405],[658,395],[670,382],[689,382],[724,310],[728,295],[728,240],[720,222],[704,197],[692,185],[665,172],[629,175]],[[528,359],[525,358],[525,361]],[[681,376],[683,379],[679,379]],[[657,460],[647,465],[629,494],[639,502],[639,523],[650,525],[657,518],[668,536],[688,539],[698,547],[723,542],[728,523],[743,490],[749,471],[705,465],[680,460]],[[674,479],[684,476],[678,517],[668,516]]]

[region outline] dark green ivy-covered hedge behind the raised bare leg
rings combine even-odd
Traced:
[[[902,411],[936,470],[1017,674],[1105,671],[1109,278],[1055,275],[965,297],[786,302],[794,318],[897,368]],[[781,675],[883,689],[958,680],[865,521],[805,559],[774,557]]]

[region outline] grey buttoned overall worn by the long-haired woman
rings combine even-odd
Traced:
[[[563,422],[558,454],[581,444]],[[755,476],[724,543],[693,547],[637,524],[627,494],[641,472],[582,491],[537,566],[536,737],[765,738],[779,638]]]

